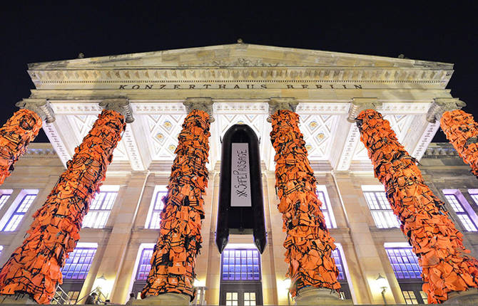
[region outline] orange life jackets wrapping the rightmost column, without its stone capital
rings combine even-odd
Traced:
[[[472,173],[478,177],[478,123],[473,120],[473,116],[462,110],[444,112],[440,126],[459,156],[472,167]]]

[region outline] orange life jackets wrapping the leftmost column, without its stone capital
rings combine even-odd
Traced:
[[[18,110],[0,127],[0,185],[41,129],[41,118],[31,110]]]

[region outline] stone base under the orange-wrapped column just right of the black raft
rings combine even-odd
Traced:
[[[328,288],[304,287],[297,292],[295,305],[353,305],[353,302],[340,300],[340,295]]]

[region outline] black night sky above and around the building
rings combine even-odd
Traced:
[[[454,63],[448,88],[478,118],[477,4],[447,1],[114,1],[2,6],[0,122],[34,88],[27,63],[235,43]],[[19,1],[20,2],[20,1]],[[23,1],[22,1],[23,2]],[[374,1],[375,2],[375,1]],[[457,2],[457,3],[465,3]],[[78,6],[74,4],[83,4]],[[15,6],[17,5],[17,6]],[[41,132],[39,142],[47,141]],[[445,141],[438,132],[434,141]]]

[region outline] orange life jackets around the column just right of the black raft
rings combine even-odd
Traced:
[[[287,233],[284,247],[285,262],[290,265],[290,293],[295,296],[307,286],[339,290],[339,270],[332,258],[334,238],[320,211],[322,203],[315,193],[316,180],[298,127],[299,116],[289,110],[278,110],[271,118],[278,209],[283,213],[283,228]]]

